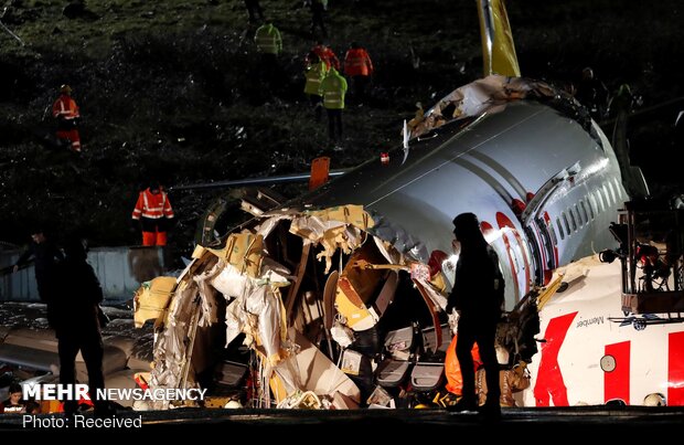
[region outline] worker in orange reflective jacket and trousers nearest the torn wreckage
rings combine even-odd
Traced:
[[[140,192],[131,218],[140,220],[142,245],[167,245],[167,230],[169,220],[173,218],[173,209],[159,182],[153,182]]]

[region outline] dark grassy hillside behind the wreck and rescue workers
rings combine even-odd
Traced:
[[[13,243],[49,220],[84,229],[94,245],[136,244],[130,212],[150,176],[174,186],[284,174],[320,155],[332,168],[353,166],[399,142],[416,102],[431,105],[481,76],[474,0],[330,0],[325,40],[339,57],[359,41],[376,66],[368,103],[350,97],[344,150],[333,151],[302,94],[316,36],[301,1],[261,0],[284,38],[275,91],[261,81],[239,0],[87,1],[74,18],[66,1],[4,3],[2,23],[24,43],[0,30],[0,240]],[[677,1],[510,3],[524,75],[571,82],[590,65],[612,91],[630,83],[644,106],[683,94],[672,68],[683,53]],[[63,83],[82,109],[79,158],[44,141]],[[639,153],[670,153],[664,119],[634,130]],[[218,193],[171,194],[179,251]]]

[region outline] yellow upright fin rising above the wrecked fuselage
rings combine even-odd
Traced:
[[[504,0],[477,1],[484,76],[501,74],[520,77],[520,66]]]

